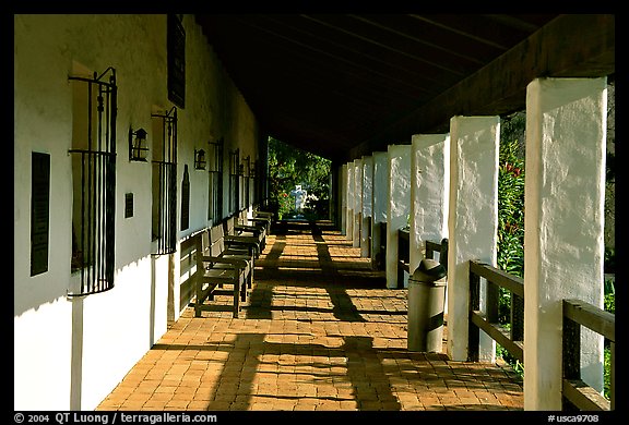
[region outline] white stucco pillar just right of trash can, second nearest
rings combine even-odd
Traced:
[[[496,266],[499,142],[500,117],[450,120],[448,354],[456,361],[467,360],[470,259]],[[482,279],[482,311],[484,287]],[[480,331],[479,361],[494,362],[495,347]]]

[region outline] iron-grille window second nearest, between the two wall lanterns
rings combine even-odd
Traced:
[[[171,254],[177,235],[177,107],[165,114],[152,114],[153,149],[153,254]]]

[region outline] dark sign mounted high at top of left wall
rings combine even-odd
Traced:
[[[183,109],[186,107],[186,32],[181,19],[168,14],[168,99]]]

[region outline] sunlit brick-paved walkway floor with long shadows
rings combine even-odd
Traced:
[[[240,317],[188,307],[97,410],[523,409],[508,365],[408,352],[406,290],[321,229],[269,235]]]

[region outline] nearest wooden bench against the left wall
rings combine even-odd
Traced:
[[[253,256],[245,250],[225,245],[223,224],[213,226],[209,231],[198,233],[194,238],[197,246],[194,316],[202,316],[205,300],[212,301],[215,295],[232,295],[233,314],[238,318],[240,302],[247,301],[247,289],[253,283]]]

